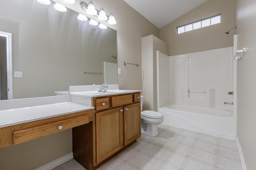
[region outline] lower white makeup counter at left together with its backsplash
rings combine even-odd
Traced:
[[[27,98],[0,101],[0,106],[2,103],[10,103],[10,105],[13,105],[12,107],[2,107],[3,109],[0,109],[0,127],[17,125],[20,123],[94,109],[92,106],[70,102],[70,97],[68,96],[69,95],[63,97],[51,96],[45,98]],[[49,102],[50,100],[54,100],[55,102]],[[24,101],[27,103],[27,105],[22,104]],[[31,101],[34,101],[35,103],[31,104]],[[23,107],[15,107],[18,105],[17,103],[21,103]]]

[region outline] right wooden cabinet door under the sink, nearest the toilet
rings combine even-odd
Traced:
[[[140,103],[124,106],[124,145],[135,141],[140,135]]]

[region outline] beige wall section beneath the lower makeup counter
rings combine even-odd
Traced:
[[[32,170],[72,152],[72,129],[0,148],[1,170]]]

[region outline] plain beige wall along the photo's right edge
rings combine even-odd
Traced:
[[[236,0],[238,49],[246,53],[237,63],[237,137],[247,170],[256,167],[256,1]]]

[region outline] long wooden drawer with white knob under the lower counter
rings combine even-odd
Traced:
[[[81,115],[62,121],[56,121],[45,125],[31,127],[28,129],[13,132],[13,144],[19,144],[39,137],[64,131],[73,127],[89,123],[89,115]]]

